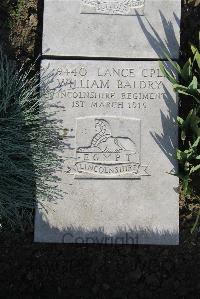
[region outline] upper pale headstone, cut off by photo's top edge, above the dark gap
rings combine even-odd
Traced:
[[[165,58],[160,45],[166,41],[171,57],[178,58],[181,0],[146,0],[138,15],[131,16],[127,14],[135,10],[127,1],[104,3],[108,8],[99,11],[96,1],[85,8],[82,0],[45,0],[43,53],[49,49],[46,54],[54,56]]]

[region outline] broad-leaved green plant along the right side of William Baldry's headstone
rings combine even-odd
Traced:
[[[180,143],[176,154],[179,161],[176,175],[182,180],[184,195],[195,194],[199,192],[200,182],[200,53],[197,47],[191,45],[191,57],[182,67],[166,52],[165,55],[169,64],[161,62],[160,68],[172,83],[174,91],[184,97],[182,102],[187,101],[188,107],[191,107],[189,112],[177,119]],[[199,217],[200,209],[194,227]]]

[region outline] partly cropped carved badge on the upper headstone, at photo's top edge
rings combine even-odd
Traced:
[[[81,13],[141,15],[144,7],[145,0],[82,0]]]

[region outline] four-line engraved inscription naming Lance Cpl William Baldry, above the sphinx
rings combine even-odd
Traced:
[[[163,100],[163,75],[159,68],[106,68],[87,65],[54,70],[59,88],[49,96],[67,100],[71,108],[147,109]]]

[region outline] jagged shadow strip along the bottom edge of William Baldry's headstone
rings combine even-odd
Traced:
[[[42,217],[38,217],[37,221],[39,221],[38,228],[42,233],[37,228],[35,242],[89,245],[178,245],[179,243],[179,234],[175,231],[152,231],[148,228],[124,229],[119,227],[115,234],[109,235],[101,227],[87,230],[71,226],[62,230],[50,226],[48,220],[42,219]]]

